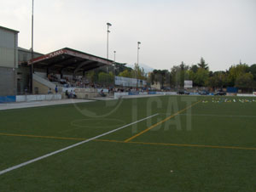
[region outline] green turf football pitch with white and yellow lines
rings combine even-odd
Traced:
[[[161,96],[0,111],[0,191],[256,191],[256,100]]]

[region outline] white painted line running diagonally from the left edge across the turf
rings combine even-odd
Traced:
[[[5,170],[3,170],[3,171],[0,171],[0,175],[3,175],[3,174],[6,173],[6,172],[11,172],[11,171],[13,171],[13,170],[15,170],[15,169],[18,169],[18,168],[20,168],[20,167],[24,167],[24,166],[26,166],[26,165],[28,165],[28,164],[31,164],[32,162],[40,161],[40,160],[42,160],[42,159],[44,159],[44,158],[47,158],[47,157],[49,157],[49,156],[51,156],[51,155],[55,155],[55,154],[61,153],[61,152],[64,151],[64,150],[69,150],[69,149],[74,148],[74,147],[76,147],[76,146],[79,146],[79,145],[81,145],[81,144],[85,144],[85,143],[87,143],[87,142],[89,142],[89,141],[91,141],[91,140],[94,140],[94,139],[96,139],[96,138],[101,138],[101,137],[103,137],[103,136],[105,136],[105,135],[108,135],[108,134],[110,134],[110,133],[117,132],[117,131],[119,131],[120,129],[123,129],[123,128],[125,128],[125,127],[129,127],[129,126],[131,126],[131,125],[133,125],[133,124],[136,124],[136,123],[138,123],[138,122],[140,122],[140,121],[144,121],[144,120],[149,119],[149,118],[154,117],[154,116],[158,116],[158,113],[157,113],[157,114],[154,114],[153,116],[148,116],[148,117],[146,117],[146,118],[143,118],[143,119],[141,119],[141,120],[139,120],[139,121],[131,122],[131,123],[129,123],[129,124],[123,126],[123,127],[119,127],[119,128],[113,129],[112,131],[109,131],[109,132],[107,132],[107,133],[103,133],[103,134],[98,135],[98,136],[96,136],[96,137],[94,137],[94,138],[88,138],[88,139],[86,139],[86,140],[84,140],[84,141],[82,141],[82,142],[79,142],[78,144],[73,144],[73,145],[67,146],[66,148],[63,148],[63,149],[61,149],[61,150],[55,150],[54,152],[51,152],[51,153],[49,153],[49,154],[46,154],[46,155],[43,155],[43,156],[39,156],[39,157],[36,158],[36,159],[32,159],[32,160],[30,160],[30,161],[23,162],[23,163],[21,163],[21,164],[19,164],[19,165],[17,165],[17,166],[9,167],[9,168],[7,168],[7,169],[5,169]]]

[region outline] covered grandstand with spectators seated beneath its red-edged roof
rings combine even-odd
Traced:
[[[85,73],[106,65],[112,66],[113,61],[71,48],[62,48],[29,60],[27,64],[34,68],[34,93],[46,94],[49,88],[55,90],[57,86],[58,92],[62,94],[76,89],[79,98],[84,99],[94,98],[98,92],[96,85],[86,79]]]

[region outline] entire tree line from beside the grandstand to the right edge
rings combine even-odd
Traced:
[[[205,59],[201,58],[197,65],[174,65],[170,71],[154,70],[146,74],[143,68],[135,64],[134,68],[126,64],[115,63],[113,66],[104,66],[96,71],[90,71],[87,77],[91,82],[111,85],[114,76],[124,76],[147,80],[148,83],[160,83],[162,88],[183,88],[185,80],[193,81],[194,87],[226,88],[236,87],[241,89],[256,88],[256,64],[232,65],[227,71],[210,71]]]

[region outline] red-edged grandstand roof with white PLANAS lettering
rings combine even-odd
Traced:
[[[50,54],[32,59],[28,65],[35,68],[50,68],[56,71],[90,71],[103,65],[112,65],[113,60],[86,54],[72,48],[62,48]]]

